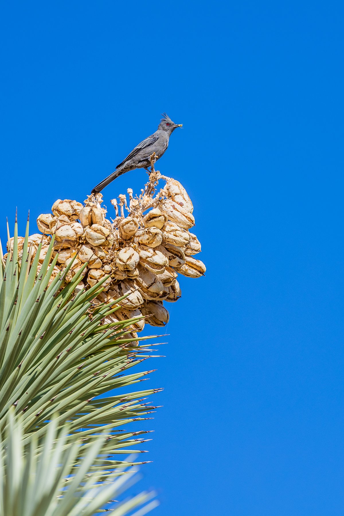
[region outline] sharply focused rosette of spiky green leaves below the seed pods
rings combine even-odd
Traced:
[[[12,410],[13,417],[20,417],[23,449],[33,446],[33,436],[40,447],[54,418],[54,432],[63,436],[66,449],[75,446],[76,437],[81,443],[71,456],[71,467],[81,467],[82,458],[90,453],[95,471],[122,475],[118,468],[133,462],[118,460],[118,455],[143,453],[127,448],[144,442],[138,436],[147,431],[126,432],[119,427],[150,419],[156,407],[144,399],[160,391],[116,394],[117,388],[134,386],[151,372],[129,370],[152,356],[151,345],[141,343],[149,337],[128,337],[128,328],[142,316],[102,324],[121,308],[124,296],[111,303],[93,303],[107,277],[88,290],[77,288],[87,263],[64,281],[73,261],[56,273],[54,236],[39,263],[42,244],[34,253],[28,235],[27,224],[19,259],[16,221],[11,248],[6,259],[2,252],[0,257],[0,433],[9,435]],[[132,347],[134,341],[137,347]],[[114,393],[105,395],[110,389]]]

